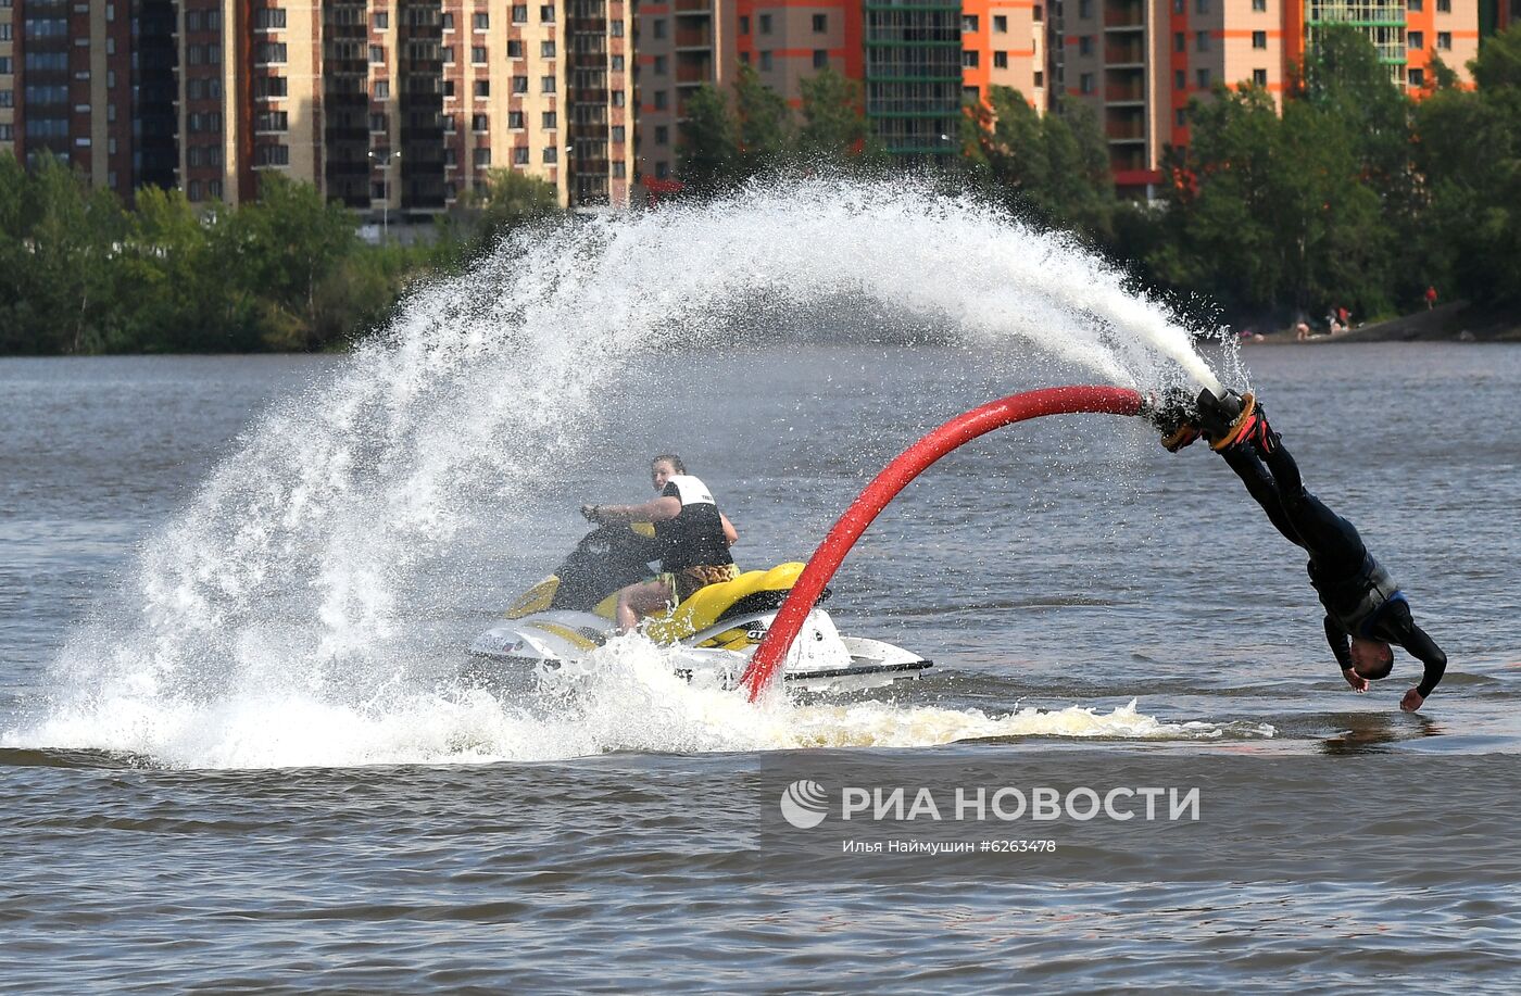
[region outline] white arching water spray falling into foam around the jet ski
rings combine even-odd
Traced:
[[[913,182],[754,187],[523,233],[415,293],[347,365],[266,414],[149,538],[119,604],[59,657],[49,703],[6,739],[218,766],[458,759],[473,739],[482,756],[531,757],[522,744],[566,756],[870,742],[864,727],[996,736],[975,730],[1010,718],[884,706],[792,710],[771,733],[726,713],[750,733],[709,739],[703,710],[744,709],[730,696],[680,699],[697,713],[662,713],[628,744],[584,703],[546,718],[418,690],[417,661],[438,648],[418,636],[417,607],[481,582],[424,584],[426,567],[484,520],[526,528],[543,468],[583,447],[599,394],[636,357],[710,350],[753,338],[757,316],[820,309],[847,325],[932,325],[1005,366],[1043,354],[1124,386],[1218,388],[1180,324],[1121,274]],[[257,745],[271,730],[280,742]]]

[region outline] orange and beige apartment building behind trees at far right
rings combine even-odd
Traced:
[[[1463,68],[1478,52],[1477,0],[1060,0],[1053,18],[1054,93],[1092,103],[1124,193],[1159,182],[1167,146],[1188,144],[1188,105],[1215,84],[1275,97],[1316,33],[1367,33],[1411,91],[1431,59]]]

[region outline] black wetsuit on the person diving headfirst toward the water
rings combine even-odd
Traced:
[[[1349,636],[1396,643],[1425,666],[1416,690],[1431,695],[1446,671],[1446,654],[1410,617],[1404,592],[1363,546],[1357,528],[1305,491],[1299,465],[1278,433],[1269,430],[1265,444],[1252,433],[1221,456],[1278,531],[1310,554],[1310,584],[1325,605],[1326,642],[1337,663],[1352,666]]]

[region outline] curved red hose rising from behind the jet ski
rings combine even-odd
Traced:
[[[750,690],[750,701],[756,701],[765,689],[771,675],[780,669],[786,660],[786,651],[792,646],[792,639],[802,628],[808,613],[814,608],[824,585],[835,576],[840,561],[846,558],[855,541],[861,538],[865,528],[872,525],[878,512],[887,508],[888,502],[897,497],[903,487],[917,477],[926,467],[949,453],[951,450],[970,442],[980,435],[989,433],[1010,423],[1043,415],[1066,415],[1074,412],[1100,412],[1106,415],[1135,415],[1141,411],[1141,395],[1129,388],[1045,388],[1042,391],[1027,391],[1007,398],[989,401],[970,412],[957,415],[940,426],[919,442],[897,455],[897,458],[882,468],[872,484],[861,491],[861,496],[846,509],[840,522],[834,525],[824,541],[814,550],[808,567],[797,578],[792,592],[777,610],[776,622],[760,640],[750,666],[741,678]]]

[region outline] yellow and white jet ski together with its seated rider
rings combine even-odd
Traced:
[[[662,467],[663,462],[668,465]],[[651,477],[662,490],[656,502],[586,506],[587,519],[613,522],[586,535],[554,575],[508,610],[505,622],[476,639],[472,652],[514,665],[558,668],[601,646],[614,634],[614,620],[621,623],[618,631],[627,631],[636,616],[645,616],[643,633],[649,639],[680,648],[675,654],[680,674],[703,672],[726,687],[736,684],[805,564],[739,573],[732,560],[722,561],[729,557],[733,526],[718,512],[701,481],[677,474],[678,468],[674,458],[656,459]],[[668,497],[680,502],[678,514],[666,508],[668,514],[653,526],[630,522],[659,514],[656,505]],[[698,509],[695,522],[683,523],[691,505],[706,508]],[[662,528],[662,523],[669,525]],[[683,557],[684,531],[721,531],[718,535],[726,541],[684,547],[698,554]],[[648,561],[656,558],[662,560],[663,572],[651,579]],[[674,610],[672,601],[678,601]],[[788,654],[783,680],[789,687],[809,690],[855,690],[917,678],[925,668],[928,660],[891,643],[843,636],[829,613],[814,608]]]

